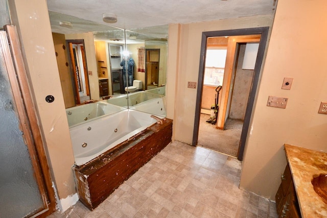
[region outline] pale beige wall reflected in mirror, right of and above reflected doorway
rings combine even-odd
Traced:
[[[88,75],[91,99],[100,100],[98,63],[96,60],[96,48],[95,48],[93,33],[88,32],[88,33],[79,33],[79,34],[65,34],[65,38],[84,39],[87,71],[92,72],[92,75]]]

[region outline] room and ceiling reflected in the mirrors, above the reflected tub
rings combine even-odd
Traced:
[[[94,24],[91,21],[64,14],[54,12],[49,12],[49,14],[52,19],[52,28],[56,32],[60,32],[54,32],[53,38],[66,108],[126,95],[126,86],[126,89],[129,89],[128,93],[132,93],[160,88],[166,84],[168,44],[167,38],[165,39],[162,35],[165,34],[164,36],[167,37],[168,26],[137,29],[135,30],[139,32],[137,33]],[[54,27],[57,23],[59,24],[59,19],[71,20],[73,25],[82,22],[83,24],[90,24],[90,30],[98,29],[100,31],[73,33],[75,31],[74,26],[68,29],[61,27],[59,31],[59,27]],[[151,34],[153,28],[156,34],[160,31],[163,34],[153,36]],[[68,53],[68,40],[83,42],[83,58],[76,52],[77,55],[74,57],[74,51],[79,51],[78,49],[72,50],[73,56]],[[67,49],[64,50],[62,47],[67,47]],[[157,64],[154,67],[155,73],[150,67],[149,70],[147,68],[147,50],[158,51],[152,57],[149,53],[151,62]],[[124,51],[128,52],[134,60],[134,66],[131,70],[132,82],[128,85],[124,85],[123,67],[120,65]],[[83,61],[81,61],[82,59]],[[78,69],[77,73],[76,69]],[[165,94],[165,87],[158,90],[154,89],[153,93]]]

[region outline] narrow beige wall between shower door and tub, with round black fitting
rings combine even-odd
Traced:
[[[66,206],[72,204],[67,201],[77,197],[72,171],[74,156],[46,1],[13,0],[8,4],[12,24],[17,26],[22,43],[43,143],[60,199],[59,207],[67,209]],[[47,95],[53,95],[54,102],[46,102]]]

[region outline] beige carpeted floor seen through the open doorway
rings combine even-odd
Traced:
[[[210,115],[200,115],[198,146],[206,147],[231,157],[237,157],[243,121],[227,119],[226,129],[205,122]]]

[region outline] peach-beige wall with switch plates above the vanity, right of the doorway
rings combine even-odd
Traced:
[[[286,166],[283,144],[327,152],[327,2],[279,1],[243,162],[241,187],[274,199]],[[294,78],[282,90],[284,77]],[[267,107],[269,95],[289,98],[286,109]],[[309,181],[310,182],[310,181]]]

